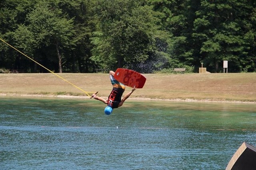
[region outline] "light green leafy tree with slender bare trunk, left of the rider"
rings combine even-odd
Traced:
[[[29,28],[34,33],[38,47],[54,45],[58,57],[59,72],[62,73],[62,62],[65,48],[75,46],[73,19],[68,19],[60,9],[50,8],[45,1],[38,2],[28,15]],[[54,7],[54,6],[53,6]]]

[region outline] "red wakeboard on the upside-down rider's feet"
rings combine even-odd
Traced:
[[[135,88],[143,88],[146,82],[146,77],[144,77],[142,74],[125,68],[118,68],[114,78],[118,82],[121,82],[122,84],[132,88],[134,86]]]

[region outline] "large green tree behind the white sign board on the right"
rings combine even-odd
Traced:
[[[215,72],[222,70],[220,64],[223,60],[229,61],[229,70],[233,72],[242,71],[244,64],[248,64],[247,49],[253,39],[246,28],[245,18],[250,13],[250,6],[244,1],[201,1],[194,20],[193,37],[202,42],[201,61]]]

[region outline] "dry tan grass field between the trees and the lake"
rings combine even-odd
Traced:
[[[112,89],[108,74],[58,74],[89,94],[107,97]],[[256,102],[256,73],[144,74],[144,88],[131,98]],[[0,74],[1,95],[88,96],[52,73]],[[126,92],[132,88],[126,87]]]

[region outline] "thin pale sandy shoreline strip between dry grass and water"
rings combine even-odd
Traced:
[[[6,94],[6,93],[0,93],[0,96],[4,97],[26,97],[26,98],[37,98],[37,97],[45,97],[45,98],[73,98],[73,99],[90,99],[88,96],[70,96],[70,95],[42,95],[42,94]],[[102,98],[107,98],[106,96],[101,96]],[[133,98],[130,97],[129,100],[145,100],[145,101],[170,101],[170,102],[218,102],[218,103],[239,103],[239,104],[256,104],[256,102],[247,102],[247,101],[229,101],[229,100],[196,100],[196,99],[152,99],[152,98]]]

